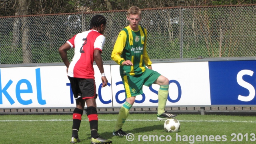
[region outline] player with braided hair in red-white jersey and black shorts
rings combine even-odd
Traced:
[[[105,43],[105,37],[103,36],[105,28],[106,18],[102,15],[96,15],[91,19],[90,30],[76,34],[59,48],[60,56],[67,67],[68,79],[76,100],[70,143],[80,142],[78,131],[85,103],[91,129],[91,144],[112,143],[112,141],[100,138],[98,135],[98,114],[96,109],[98,95],[96,94],[93,68],[95,60],[101,73],[102,87],[107,86],[108,80],[104,73],[101,56]],[[71,48],[74,48],[75,52],[72,62],[69,62],[67,51]]]

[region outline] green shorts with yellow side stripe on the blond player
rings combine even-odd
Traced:
[[[148,68],[140,76],[121,75],[126,98],[143,94],[142,86],[151,86],[159,76],[161,74]]]

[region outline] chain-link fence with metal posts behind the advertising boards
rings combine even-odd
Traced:
[[[0,64],[62,62],[58,48],[88,30],[90,19],[107,19],[102,57],[111,60],[126,10],[97,13],[0,17]],[[256,5],[143,9],[150,59],[256,56]],[[74,52],[68,51],[72,60]]]

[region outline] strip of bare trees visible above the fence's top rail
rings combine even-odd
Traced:
[[[29,0],[29,15],[58,14],[85,11],[127,10],[130,6],[140,8],[163,8],[180,6],[212,6],[256,4],[256,0]],[[0,16],[15,16],[19,8],[17,0],[0,0]]]

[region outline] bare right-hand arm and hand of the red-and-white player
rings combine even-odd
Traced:
[[[103,62],[102,62],[102,57],[101,57],[101,51],[100,50],[94,50],[94,60],[100,70],[100,73],[104,73],[104,68],[103,68]],[[102,87],[107,86],[108,80],[106,76],[101,77],[102,80]]]

